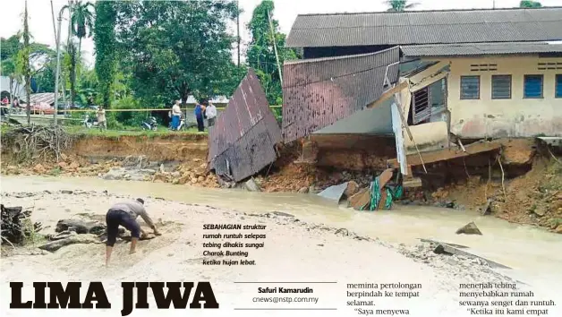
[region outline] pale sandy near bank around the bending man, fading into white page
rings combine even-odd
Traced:
[[[7,182],[2,184],[3,203],[32,209],[34,221],[42,222],[45,227],[41,234],[53,233],[56,221],[61,218],[101,220],[112,203],[133,198],[97,191],[50,192],[47,187],[34,193],[21,193]],[[10,255],[2,261],[4,303],[8,300],[4,297],[7,283],[13,280],[30,283],[37,280],[101,278],[106,291],[112,294],[118,291],[121,281],[172,281],[179,278],[212,281],[221,307],[229,310],[229,315],[242,316],[246,314],[232,309],[255,307],[251,298],[258,294],[255,286],[234,284],[236,281],[336,281],[338,284],[331,288],[322,285],[312,287],[315,289],[314,295],[319,296],[318,306],[338,308],[336,313],[322,314],[339,316],[356,313],[353,307],[345,305],[349,300],[346,298],[347,283],[402,282],[420,283],[420,296],[377,299],[376,308],[410,309],[413,316],[426,316],[428,313],[451,316],[466,313],[466,308],[458,304],[462,299],[458,296],[459,283],[515,283],[485,262],[438,255],[432,252],[433,248],[428,244],[413,247],[387,244],[372,236],[357,236],[352,230],[307,223],[283,212],[258,215],[153,198],[146,198],[146,207],[152,218],[157,220],[163,236],[141,241],[138,253],[132,255],[127,253],[126,243],[119,242],[109,270],[103,266],[103,244],[72,244],[55,253],[38,252],[35,246],[41,244],[40,241],[15,251],[3,245],[4,252]],[[202,244],[209,241],[203,238],[203,234],[209,233],[209,230],[203,230],[204,224],[267,226],[265,230],[252,232],[267,235],[263,239],[264,246],[260,249],[245,249],[250,254],[249,258],[257,264],[231,267],[203,265],[202,261],[209,258],[203,255]],[[318,270],[319,267],[322,270]],[[553,296],[545,286],[517,285],[521,290],[532,289],[537,298],[550,299]],[[30,292],[28,290],[24,296],[30,296]],[[149,297],[149,303],[153,303]],[[3,310],[7,307],[5,304],[2,306]],[[119,306],[115,304],[115,310]],[[61,315],[64,312],[56,313]],[[4,311],[3,315],[22,313],[25,311]],[[206,315],[220,314],[206,312]]]

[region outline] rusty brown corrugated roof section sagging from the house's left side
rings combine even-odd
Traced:
[[[387,66],[400,58],[398,47],[356,56],[286,62],[283,65],[283,136],[285,142],[314,133],[353,115],[379,99]],[[388,68],[391,83],[398,64]]]

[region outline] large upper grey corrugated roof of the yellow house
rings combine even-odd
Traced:
[[[562,39],[562,7],[298,15],[287,47]]]

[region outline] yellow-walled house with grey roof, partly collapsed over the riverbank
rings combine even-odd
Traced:
[[[500,147],[461,140],[562,136],[560,40],[558,7],[299,15],[286,40],[304,59],[284,65],[285,141],[394,134],[389,166],[409,175]]]

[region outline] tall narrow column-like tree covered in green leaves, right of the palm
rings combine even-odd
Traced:
[[[96,52],[96,73],[99,79],[99,92],[102,105],[109,107],[115,81],[115,22],[117,10],[113,1],[96,3],[96,24],[94,43]]]

